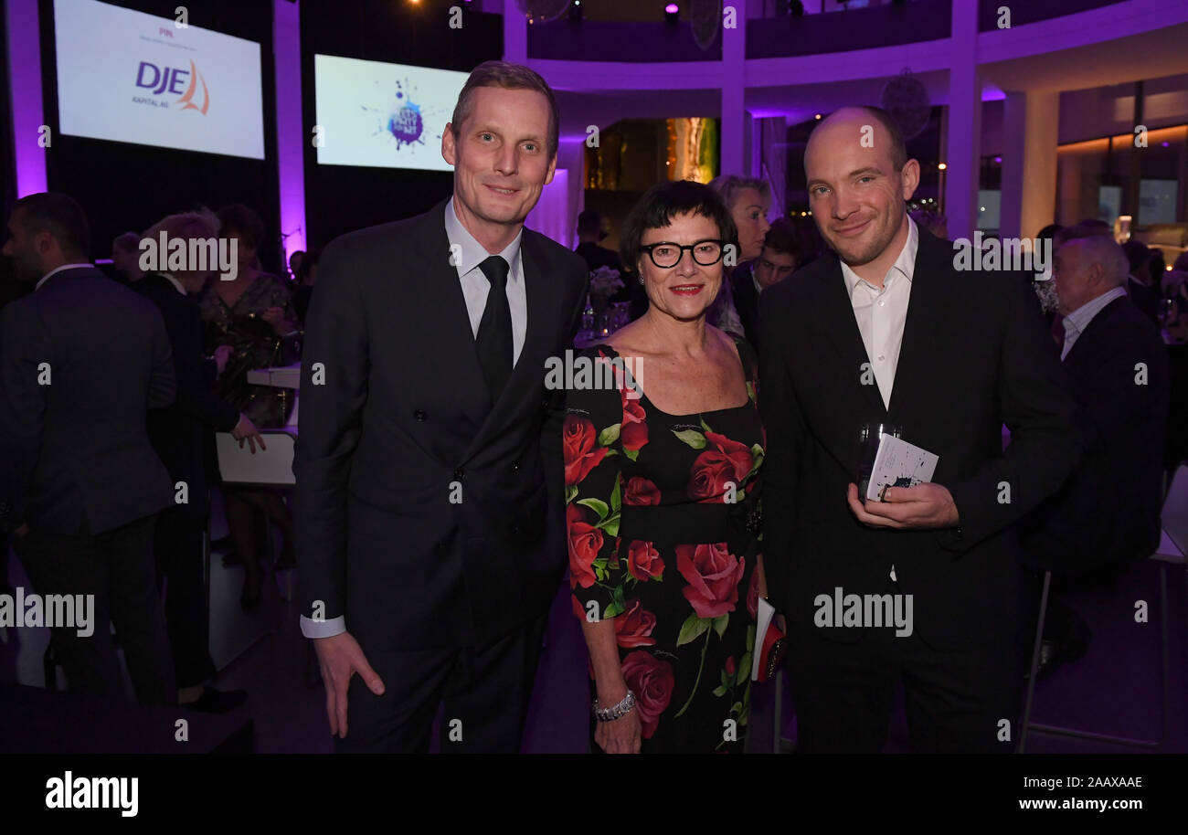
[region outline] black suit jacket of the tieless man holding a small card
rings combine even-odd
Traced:
[[[1074,401],[1035,293],[1012,273],[958,272],[953,252],[920,235],[890,410],[873,378],[862,385],[868,360],[835,254],[764,293],[764,564],[797,627],[815,628],[815,599],[835,587],[885,593],[892,564],[930,645],[984,646],[1017,625],[1015,524],[1076,462]],[[859,428],[872,422],[901,425],[905,441],[940,456],[933,480],[953,494],[959,529],[876,530],[854,519],[846,488]],[[862,630],[822,633],[849,641]]]

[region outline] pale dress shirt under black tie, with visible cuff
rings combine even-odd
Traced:
[[[512,314],[512,365],[519,361],[520,350],[524,348],[524,336],[527,333],[527,291],[524,285],[524,262],[520,258],[519,245],[524,236],[523,229],[516,239],[499,254],[507,261],[507,305]],[[474,235],[466,230],[462,221],[454,211],[454,198],[450,197],[446,204],[446,238],[450,246],[459,247],[459,258],[455,267],[457,278],[462,284],[462,297],[466,299],[466,312],[470,317],[470,331],[474,337],[479,337],[479,324],[482,322],[482,311],[487,306],[487,293],[491,292],[491,282],[484,274],[479,265],[482,264],[491,253],[487,252]],[[443,253],[444,255],[444,253]],[[448,255],[446,255],[448,257]],[[347,631],[346,615],[339,615],[329,620],[316,621],[301,616],[301,632],[307,638],[330,638]]]

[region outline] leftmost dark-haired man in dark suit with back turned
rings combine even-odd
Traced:
[[[137,700],[175,704],[152,568],[157,513],[173,488],[145,430],[172,403],[157,309],[87,260],[87,217],[67,195],[17,201],[5,253],[32,295],[0,315],[0,526],[40,595],[94,595],[94,632],[55,628],[72,690],[124,694],[110,625]],[[39,280],[38,280],[39,279]]]

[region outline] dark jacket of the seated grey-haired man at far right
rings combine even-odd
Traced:
[[[1034,565],[1075,575],[1159,545],[1168,354],[1151,321],[1121,297],[1089,321],[1064,369],[1085,455],[1026,520],[1023,543]]]

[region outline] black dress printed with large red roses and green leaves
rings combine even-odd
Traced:
[[[574,614],[614,619],[645,753],[741,752],[746,735],[764,432],[754,354],[737,344],[750,396],[741,406],[666,415],[643,391],[646,367],[634,387],[630,362],[619,366],[626,386],[577,378],[568,396]],[[594,346],[580,356],[596,367],[618,354]]]

